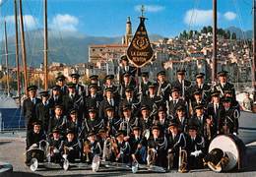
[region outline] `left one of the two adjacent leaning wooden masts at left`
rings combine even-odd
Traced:
[[[14,14],[15,14],[15,61],[17,67],[17,93],[19,99],[19,106],[21,106],[21,78],[20,78],[20,61],[19,61],[19,36],[18,36],[18,13],[17,0],[14,0]]]

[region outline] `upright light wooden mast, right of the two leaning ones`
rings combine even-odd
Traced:
[[[48,89],[48,28],[47,28],[47,0],[44,0],[44,89]]]

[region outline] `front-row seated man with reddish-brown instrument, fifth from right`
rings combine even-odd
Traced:
[[[112,143],[111,161],[129,163],[131,148],[128,142],[124,141],[124,132],[119,130],[115,135],[116,140]]]

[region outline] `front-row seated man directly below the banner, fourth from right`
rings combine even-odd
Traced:
[[[133,128],[133,135],[130,140],[131,156],[133,161],[137,161],[140,164],[146,164],[147,158],[147,140],[142,137],[142,131],[140,127]]]

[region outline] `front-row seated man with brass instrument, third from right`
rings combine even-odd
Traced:
[[[160,136],[160,126],[154,125],[152,136],[148,140],[148,165],[166,167],[166,149],[167,140],[164,136]]]

